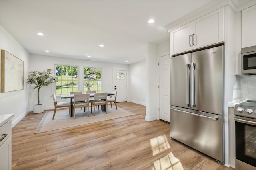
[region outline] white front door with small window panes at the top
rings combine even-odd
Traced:
[[[114,90],[117,91],[116,102],[127,101],[127,72],[114,70]]]

